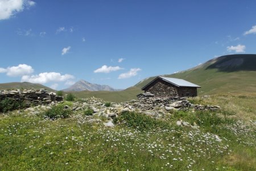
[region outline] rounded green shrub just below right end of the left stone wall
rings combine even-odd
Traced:
[[[57,118],[69,118],[72,115],[71,109],[64,109],[63,105],[53,106],[51,109],[48,109],[44,116],[47,116],[50,119],[57,119]]]

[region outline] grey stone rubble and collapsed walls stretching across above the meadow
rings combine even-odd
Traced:
[[[48,93],[46,90],[24,90],[24,91],[0,91],[0,100],[4,98],[14,98],[16,100],[24,101],[28,105],[31,103],[39,105],[36,107],[30,107],[26,111],[30,114],[37,114],[39,110],[50,109],[56,102],[62,103],[62,97],[56,96],[55,93]],[[49,104],[50,103],[50,104]],[[73,102],[73,107],[68,105],[64,106],[65,109],[72,109],[76,114],[84,115],[86,109],[93,111],[92,116],[86,116],[88,122],[99,122],[99,120],[105,120],[104,125],[106,127],[114,127],[113,119],[118,117],[122,111],[136,111],[143,112],[154,118],[163,118],[164,115],[171,115],[170,111],[175,110],[211,110],[215,111],[220,109],[220,106],[203,106],[193,105],[186,98],[154,98],[145,97],[139,98],[139,100],[131,100],[129,102],[114,103],[112,102],[109,107],[105,106],[105,102],[102,99],[86,98]],[[199,128],[195,124],[190,124],[179,120],[177,126],[188,126],[192,128]]]

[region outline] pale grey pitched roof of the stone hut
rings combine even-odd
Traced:
[[[156,77],[154,80],[152,80],[150,83],[148,83],[146,86],[142,88],[142,90],[150,85],[152,82],[154,82],[156,79],[162,79],[163,81],[169,82],[170,84],[173,84],[177,87],[201,87],[199,85],[193,84],[192,82],[188,82],[179,78],[170,78],[170,77]]]

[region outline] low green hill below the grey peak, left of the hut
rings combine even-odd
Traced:
[[[139,87],[129,87],[122,91],[73,91],[78,98],[96,97],[110,102],[124,102],[137,99],[136,95],[142,93]]]

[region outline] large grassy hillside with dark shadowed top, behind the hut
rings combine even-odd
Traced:
[[[199,95],[208,94],[256,94],[256,55],[227,55],[218,57],[180,73],[166,77],[181,78],[200,85]],[[139,82],[142,88],[155,77]]]

